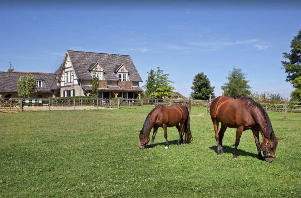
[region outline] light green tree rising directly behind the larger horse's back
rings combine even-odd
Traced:
[[[249,90],[251,87],[248,85],[250,80],[246,80],[247,74],[242,73],[242,70],[239,68],[233,67],[232,71],[229,71],[229,76],[227,79],[229,82],[224,83],[221,87],[223,95],[228,95],[234,98],[240,98],[241,96],[249,96],[251,91]]]

